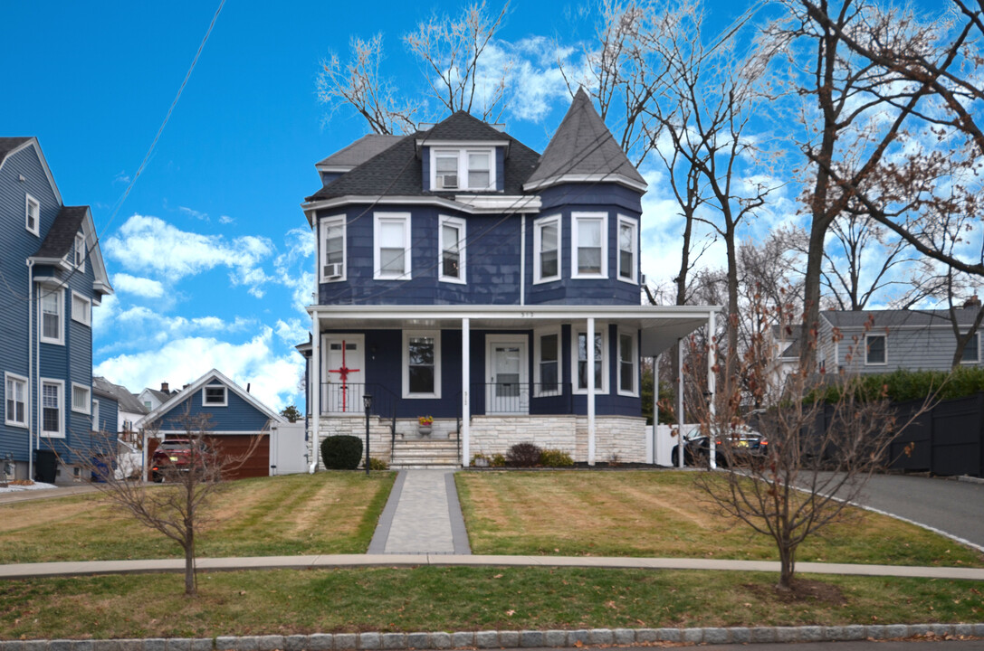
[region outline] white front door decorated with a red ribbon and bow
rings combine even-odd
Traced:
[[[365,393],[365,335],[325,334],[322,350],[322,410],[362,413]]]

